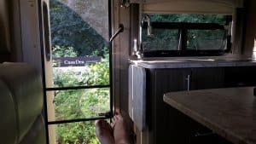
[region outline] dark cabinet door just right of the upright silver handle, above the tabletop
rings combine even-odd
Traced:
[[[224,87],[224,68],[192,68],[191,90],[217,89]]]

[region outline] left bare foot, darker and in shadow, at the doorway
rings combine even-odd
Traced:
[[[102,144],[114,144],[113,129],[106,120],[96,120],[96,136]]]

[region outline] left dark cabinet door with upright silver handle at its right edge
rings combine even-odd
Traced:
[[[163,101],[163,95],[170,91],[182,91],[188,88],[190,69],[158,69],[150,70],[148,91],[149,129],[153,131],[151,142],[154,144],[186,143],[183,136],[183,121],[177,121],[177,111]],[[182,125],[180,125],[182,123]]]

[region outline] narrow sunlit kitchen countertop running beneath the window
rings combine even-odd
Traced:
[[[144,68],[191,68],[221,66],[256,66],[256,60],[241,55],[207,57],[160,57],[130,60],[132,64]]]

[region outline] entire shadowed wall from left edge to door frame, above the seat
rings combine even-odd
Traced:
[[[36,0],[0,0],[0,56],[0,61],[27,62],[41,72]]]

